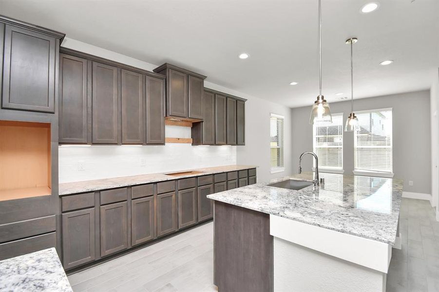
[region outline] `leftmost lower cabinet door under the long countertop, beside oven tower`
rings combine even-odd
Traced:
[[[95,209],[62,214],[62,262],[70,269],[95,260]]]

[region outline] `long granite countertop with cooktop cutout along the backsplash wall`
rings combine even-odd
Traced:
[[[94,181],[83,181],[83,182],[75,182],[75,183],[60,183],[59,184],[59,195],[70,195],[76,193],[84,193],[84,192],[92,192],[96,190],[104,190],[115,187],[123,187],[144,183],[157,183],[164,181],[171,181],[176,179],[184,179],[197,177],[202,175],[209,175],[221,172],[229,172],[243,169],[255,168],[257,166],[254,165],[226,165],[226,166],[216,166],[216,167],[207,167],[207,168],[197,168],[197,169],[189,169],[189,170],[181,170],[181,171],[172,171],[165,173],[152,173],[152,174],[142,174],[135,176],[127,176],[127,177],[119,177],[119,178],[111,178],[111,179],[102,179],[102,180],[94,180]],[[175,173],[175,172],[190,172],[190,171],[198,171],[200,173],[196,174],[188,174],[183,176],[171,176],[167,175],[167,173]]]

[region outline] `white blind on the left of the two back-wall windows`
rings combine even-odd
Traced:
[[[332,114],[332,123],[314,124],[313,141],[319,168],[343,169],[343,113]]]

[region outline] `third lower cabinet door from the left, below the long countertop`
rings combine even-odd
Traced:
[[[131,244],[154,238],[154,197],[131,201]]]

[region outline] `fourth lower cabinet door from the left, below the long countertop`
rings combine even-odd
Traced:
[[[157,237],[177,230],[175,192],[157,195]]]

